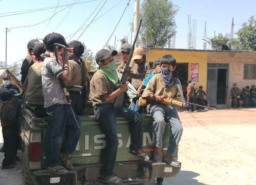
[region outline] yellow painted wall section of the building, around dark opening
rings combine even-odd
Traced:
[[[188,50],[172,50],[162,48],[146,48],[147,62],[154,62],[154,60],[163,57],[164,55],[172,55],[175,57],[177,63],[188,63],[188,78],[190,79],[190,64],[199,63],[199,77],[196,86],[203,86],[204,90],[207,88],[207,52],[205,51],[188,51]]]

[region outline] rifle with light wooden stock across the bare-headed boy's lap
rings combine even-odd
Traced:
[[[152,102],[152,101],[154,101],[154,100],[150,100],[150,102]],[[188,104],[191,104],[191,105],[195,105],[195,106],[198,106],[198,107],[203,107],[203,108],[207,108],[207,109],[211,109],[211,110],[217,110],[215,108],[207,107],[207,106],[196,104],[196,103],[189,103],[189,102],[186,102],[186,101],[183,102],[183,101],[179,101],[179,100],[176,100],[176,99],[173,99],[173,98],[164,98],[164,101],[166,103],[175,104],[175,105],[178,105],[180,107],[187,107]],[[144,99],[144,98],[140,97],[139,98],[139,107],[145,106],[146,104],[148,104],[150,102],[148,102],[147,99]]]

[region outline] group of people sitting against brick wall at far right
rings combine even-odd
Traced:
[[[230,98],[232,108],[240,108],[240,100],[243,101],[243,105],[245,108],[255,107],[255,85],[251,85],[251,88],[249,86],[246,86],[242,89],[242,91],[240,91],[240,89],[237,86],[237,83],[233,83],[233,87],[230,90]]]

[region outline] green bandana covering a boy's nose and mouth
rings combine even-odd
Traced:
[[[118,83],[115,61],[112,60],[109,64],[100,67],[100,70],[109,78],[115,85]]]

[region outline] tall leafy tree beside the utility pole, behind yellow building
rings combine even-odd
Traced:
[[[144,0],[140,9],[142,41],[152,40],[155,47],[164,47],[176,33],[177,12],[178,6],[171,1]]]

